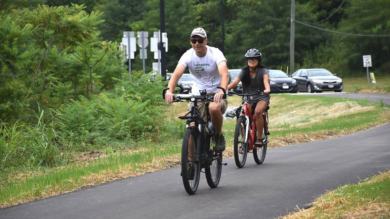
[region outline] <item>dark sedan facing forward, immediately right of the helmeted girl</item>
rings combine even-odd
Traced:
[[[298,85],[296,80],[290,78],[286,73],[280,70],[269,71],[269,87],[271,93],[296,93],[298,92]]]

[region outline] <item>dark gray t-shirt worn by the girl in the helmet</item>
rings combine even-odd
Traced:
[[[256,75],[254,78],[252,78],[252,76],[250,76],[250,74],[249,74],[249,77],[250,77],[249,84],[245,85],[243,83],[243,94],[252,94],[258,90],[260,90],[261,92],[264,91],[265,87],[264,87],[263,78],[264,78],[264,75],[266,75],[266,74],[269,75],[269,71],[266,68],[257,69]],[[237,78],[239,78],[242,81],[242,79],[244,78],[244,70],[241,70],[238,73]],[[255,102],[258,102],[260,99],[267,99],[268,100],[267,102],[269,102],[269,95],[258,95],[257,94],[257,95],[254,95],[252,97],[252,99],[249,99],[248,102],[255,103]]]

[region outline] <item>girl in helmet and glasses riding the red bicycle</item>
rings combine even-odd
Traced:
[[[264,90],[264,95],[253,95],[248,99],[248,103],[250,103],[250,112],[253,112],[253,107],[255,108],[257,136],[262,135],[264,126],[262,113],[268,108],[269,99],[271,98],[269,96],[269,92],[271,92],[269,88],[269,72],[268,69],[261,64],[261,58],[262,55],[259,50],[249,49],[245,53],[245,59],[248,66],[243,68],[237,75],[237,78],[235,78],[227,87],[227,90],[231,90],[242,81],[243,94],[252,94],[257,90]],[[255,147],[262,147],[262,142],[262,139],[257,139],[255,141]]]

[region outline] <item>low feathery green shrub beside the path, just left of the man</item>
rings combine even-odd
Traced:
[[[158,135],[161,114],[167,106],[161,98],[165,82],[151,73],[134,72],[132,82],[115,79],[119,86],[105,93],[64,104],[57,110],[57,129],[79,143],[105,146]]]

